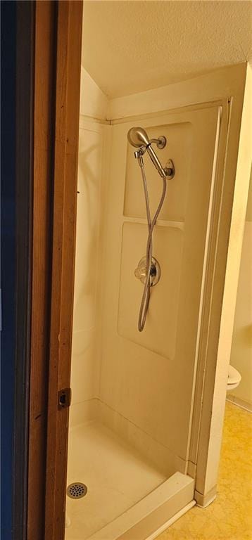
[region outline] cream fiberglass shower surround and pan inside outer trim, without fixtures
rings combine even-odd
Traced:
[[[168,148],[156,152],[176,167],[153,230],[160,281],[142,333],[144,284],[134,271],[148,226],[127,141],[132,120],[80,126],[68,483],[86,484],[87,496],[67,497],[66,539],[81,531],[112,540],[125,520],[127,529],[136,526],[136,513],[139,522],[161,505],[167,521],[194,499],[187,473],[220,107],[151,115],[141,125],[151,139],[166,137]],[[145,165],[153,214],[162,181],[151,161]]]

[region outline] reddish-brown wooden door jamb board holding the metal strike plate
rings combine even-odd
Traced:
[[[70,386],[81,37],[82,1],[58,2],[45,540],[65,534],[68,409],[58,410],[58,390]]]

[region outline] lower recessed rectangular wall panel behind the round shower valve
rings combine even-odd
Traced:
[[[134,269],[145,255],[146,225],[125,222],[122,229],[118,333],[170,361],[174,361],[176,350],[183,239],[179,226],[156,226],[153,256],[160,264],[160,281],[151,289],[149,314],[140,333],[137,321],[143,284],[135,278]]]

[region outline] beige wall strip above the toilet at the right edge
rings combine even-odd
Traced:
[[[229,397],[252,405],[252,172],[241,253],[237,305],[230,364],[241,373],[239,387]],[[234,399],[234,400],[235,400]]]

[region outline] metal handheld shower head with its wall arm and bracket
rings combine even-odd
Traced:
[[[158,137],[158,139],[149,140],[146,131],[142,127],[132,127],[130,131],[128,131],[127,138],[129,143],[132,144],[132,146],[134,146],[135,148],[139,148],[139,150],[134,153],[135,158],[141,158],[141,156],[143,156],[147,150],[147,153],[149,154],[149,157],[151,158],[151,161],[153,162],[153,165],[155,165],[160,176],[162,176],[162,178],[168,179],[173,178],[173,176],[175,175],[175,168],[172,160],[169,160],[168,167],[162,167],[160,161],[158,160],[156,152],[151,146],[154,143],[160,150],[165,148],[166,138],[164,136],[160,136]]]

